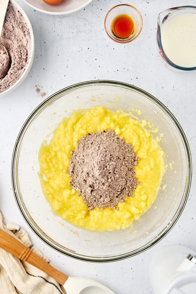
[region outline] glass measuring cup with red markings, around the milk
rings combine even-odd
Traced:
[[[171,59],[169,59],[168,55],[164,51],[163,40],[162,40],[162,33],[168,22],[174,19],[175,17],[180,17],[185,13],[194,14],[196,17],[196,6],[179,6],[173,7],[170,9],[166,9],[159,13],[158,16],[158,26],[157,26],[157,34],[156,34],[156,43],[158,46],[159,57],[162,63],[170,70],[173,71],[190,71],[196,70],[196,63],[195,66],[181,66],[177,65]],[[183,15],[183,16],[184,16]],[[177,48],[178,49],[178,48]],[[196,53],[195,53],[196,54]],[[184,52],[184,58],[186,58],[186,52]]]

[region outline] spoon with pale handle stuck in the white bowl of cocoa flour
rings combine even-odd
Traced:
[[[1,34],[2,34],[2,29],[3,29],[4,19],[6,16],[8,2],[9,2],[9,0],[0,1],[0,55],[6,56],[6,58],[4,57],[4,59],[6,60],[5,65],[4,65],[5,67],[3,69],[0,69],[0,78],[1,79],[6,76],[8,70],[9,70],[9,55],[6,50],[6,47],[4,47],[3,44],[1,43]]]

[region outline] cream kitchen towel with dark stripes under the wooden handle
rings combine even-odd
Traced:
[[[0,228],[19,239],[49,263],[32,245],[27,233],[16,224],[5,225],[0,213]],[[0,293],[2,294],[66,294],[65,289],[40,269],[0,248]]]

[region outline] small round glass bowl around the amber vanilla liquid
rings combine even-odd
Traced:
[[[128,36],[127,38],[120,38],[116,36],[111,28],[112,21],[117,17],[118,15],[126,14],[130,16],[135,24],[134,32],[131,34],[131,36]],[[143,21],[140,12],[138,9],[136,9],[134,6],[131,6],[129,4],[119,4],[114,7],[112,7],[108,13],[106,14],[105,21],[104,21],[104,27],[107,35],[115,42],[118,43],[129,43],[133,40],[135,40],[142,29]]]

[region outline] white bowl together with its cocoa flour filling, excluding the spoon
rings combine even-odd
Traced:
[[[24,10],[10,0],[2,29],[1,42],[9,54],[9,70],[0,77],[0,96],[16,89],[27,77],[34,58],[34,36]],[[0,58],[0,67],[3,66]]]

